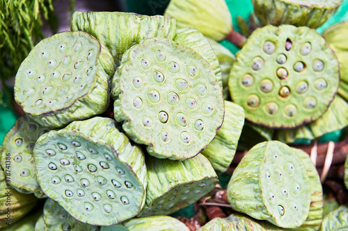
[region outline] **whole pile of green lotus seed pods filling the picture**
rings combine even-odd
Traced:
[[[313,30],[342,0],[252,2],[262,26],[247,39],[224,0],[171,0],[164,16],[77,11],[39,42],[15,76],[25,115],[0,146],[0,228],[348,228],[347,206],[325,212],[310,156],[287,145],[348,126],[348,24]],[[237,146],[233,213],[167,216],[216,189]]]

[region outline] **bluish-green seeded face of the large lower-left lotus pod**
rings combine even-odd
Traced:
[[[40,139],[34,152],[42,190],[75,219],[111,225],[139,212],[143,185],[101,140],[61,130]]]

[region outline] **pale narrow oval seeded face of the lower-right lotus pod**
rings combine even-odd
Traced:
[[[260,191],[274,224],[298,227],[310,208],[310,183],[306,167],[292,148],[280,142],[267,142],[260,166]]]

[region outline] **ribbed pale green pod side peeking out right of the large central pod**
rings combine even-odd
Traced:
[[[216,136],[201,152],[216,171],[227,171],[237,151],[237,144],[244,125],[244,110],[239,105],[225,101],[225,119]]]

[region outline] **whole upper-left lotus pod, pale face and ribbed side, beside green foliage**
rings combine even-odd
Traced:
[[[106,110],[113,62],[88,33],[65,31],[39,42],[15,78],[15,100],[42,126],[62,127]]]

